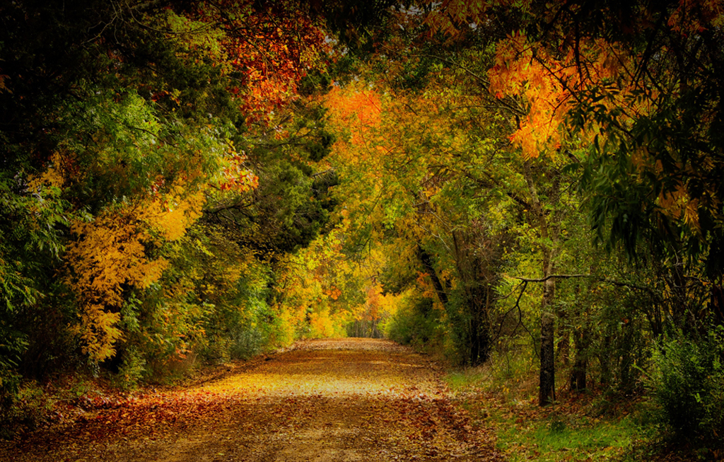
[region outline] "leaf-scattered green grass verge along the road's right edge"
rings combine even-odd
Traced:
[[[446,376],[458,404],[473,423],[494,429],[511,462],[621,461],[652,433],[639,401],[600,391],[560,392],[554,406],[540,408],[536,371],[513,371],[487,365]]]

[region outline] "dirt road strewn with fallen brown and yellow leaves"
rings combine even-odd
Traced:
[[[500,461],[439,369],[387,340],[313,340],[200,385],[89,400],[0,461]],[[243,370],[241,370],[243,369]]]

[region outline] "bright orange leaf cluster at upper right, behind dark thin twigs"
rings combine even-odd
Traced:
[[[495,64],[488,72],[489,90],[496,98],[522,98],[526,114],[510,140],[521,147],[523,156],[552,156],[566,137],[565,117],[575,104],[584,102],[586,88],[597,89],[598,106],[623,107],[632,116],[646,113],[646,104],[626,101],[626,92],[620,91],[626,90],[626,79],[631,77],[624,69],[624,55],[617,43],[600,38],[581,39],[555,56],[522,34],[498,43]],[[610,86],[613,82],[618,82],[615,89]],[[592,122],[578,136],[592,143],[601,128],[605,127]]]

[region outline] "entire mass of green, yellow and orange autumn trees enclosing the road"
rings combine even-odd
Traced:
[[[724,424],[724,3],[0,6],[0,407],[308,337]],[[720,443],[719,443],[720,444]]]

